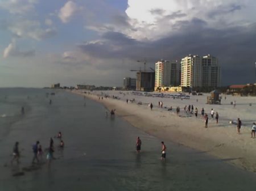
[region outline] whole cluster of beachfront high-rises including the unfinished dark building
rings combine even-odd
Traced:
[[[154,77],[153,77],[154,75]],[[124,78],[123,88],[128,90],[131,78]],[[191,55],[178,61],[160,60],[155,72],[139,71],[136,78],[138,91],[192,91],[199,88],[218,88],[221,82],[221,66],[218,59]]]

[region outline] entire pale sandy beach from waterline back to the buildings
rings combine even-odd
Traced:
[[[104,104],[109,111],[115,109],[115,113],[131,125],[163,141],[179,143],[216,156],[248,171],[256,172],[256,139],[250,138],[250,125],[255,120],[255,97],[227,96],[226,100],[222,97],[222,105],[207,105],[205,104],[207,95],[191,96],[189,100],[174,100],[132,95],[131,91],[93,91],[90,92],[90,95],[84,94],[84,91],[72,92]],[[99,100],[98,96],[100,95],[109,95],[110,97]],[[113,99],[113,95],[121,99]],[[136,100],[135,103],[130,101],[128,104],[126,103],[126,99],[133,98]],[[158,101],[161,100],[166,107],[172,105],[173,111],[158,108]],[[236,108],[230,105],[230,101],[233,100],[236,100]],[[142,105],[136,104],[138,101],[142,101]],[[152,111],[148,107],[148,103],[151,102],[154,105]],[[249,103],[253,105],[249,107]],[[194,105],[194,111],[195,107],[198,108],[198,118],[195,118],[194,114],[191,117],[183,114],[183,107],[188,104]],[[176,115],[177,105],[180,106],[181,117]],[[210,108],[214,108],[215,113],[217,111],[220,114],[219,123],[216,124],[216,120],[212,120],[208,114],[208,128],[204,128],[204,119],[200,118],[202,107],[207,113],[210,113]],[[236,120],[237,117],[242,120],[241,134],[237,134],[236,125],[229,124],[230,120]],[[168,150],[171,152],[171,148]]]

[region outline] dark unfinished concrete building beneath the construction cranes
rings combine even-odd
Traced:
[[[139,71],[136,74],[136,90],[137,91],[154,91],[155,87],[155,72],[154,71]]]

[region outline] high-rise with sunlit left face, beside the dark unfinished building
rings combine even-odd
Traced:
[[[179,63],[158,61],[155,63],[155,88],[179,85]]]

